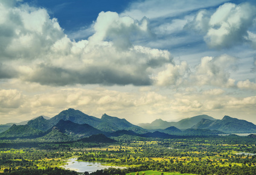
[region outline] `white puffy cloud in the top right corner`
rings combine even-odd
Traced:
[[[248,30],[256,16],[256,8],[249,3],[226,3],[210,14],[202,10],[187,27],[201,31],[211,48],[230,48],[247,42]]]

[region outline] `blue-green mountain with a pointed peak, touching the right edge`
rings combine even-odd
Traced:
[[[225,133],[255,133],[256,126],[243,119],[224,116],[221,120],[209,121],[202,119],[198,124],[192,127],[193,129],[210,129],[219,130]]]

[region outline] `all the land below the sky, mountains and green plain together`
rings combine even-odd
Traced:
[[[95,118],[74,109],[50,119],[39,116],[0,133],[0,173],[256,174],[254,124],[230,116],[211,119],[194,116],[176,126],[158,119],[158,128],[149,124],[151,129],[145,129],[126,119]],[[82,167],[65,168],[74,159]],[[91,171],[93,162],[103,169]]]

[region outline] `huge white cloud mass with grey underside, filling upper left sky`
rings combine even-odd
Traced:
[[[5,2],[5,1],[4,1]],[[150,34],[146,18],[136,21],[101,12],[88,40],[68,38],[44,8],[0,2],[0,78],[68,84],[150,85],[154,69],[172,63],[170,52],[132,44]]]

